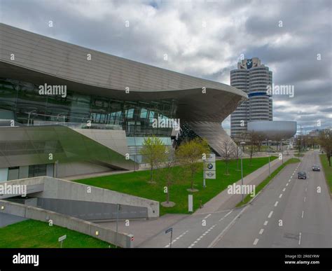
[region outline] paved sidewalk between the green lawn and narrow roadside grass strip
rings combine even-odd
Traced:
[[[292,158],[293,155],[284,155],[284,162]],[[271,173],[275,171],[280,165],[282,165],[282,160],[275,159],[270,162],[270,171]],[[268,177],[268,164],[257,169],[251,174],[243,178],[243,184],[251,184],[258,186],[259,183],[264,181]],[[235,184],[241,184],[241,180],[237,181]],[[204,207],[195,211],[194,214],[206,214],[216,211],[233,209],[237,203],[242,200],[242,195],[230,195],[228,194],[228,189],[226,188],[221,193],[216,195],[212,200],[204,204]]]

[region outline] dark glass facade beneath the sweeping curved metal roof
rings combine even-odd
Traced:
[[[25,125],[36,120],[66,123],[90,120],[92,125],[120,125],[127,137],[170,137],[172,128],[153,128],[152,123],[153,118],[175,118],[176,106],[172,99],[129,102],[71,90],[67,90],[66,97],[39,95],[38,85],[0,78],[0,119],[4,118],[1,110],[13,112],[15,121]]]

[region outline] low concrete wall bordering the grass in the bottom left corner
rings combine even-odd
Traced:
[[[76,230],[77,232],[90,235],[111,244],[116,243],[120,247],[134,247],[133,242],[130,242],[132,235],[118,232],[118,237],[116,237],[115,231],[110,230],[109,228],[104,228],[102,225],[83,221],[64,214],[58,214],[54,211],[47,211],[37,207],[0,200],[0,214],[11,214],[44,222],[52,220],[53,225],[59,225],[60,227],[68,228],[69,230]],[[96,235],[96,232],[98,232],[99,235]]]

